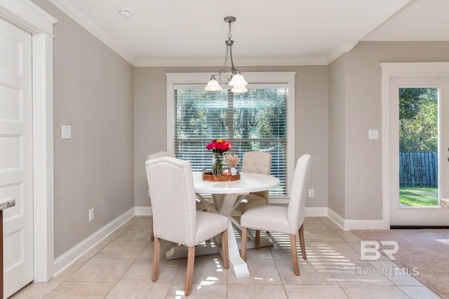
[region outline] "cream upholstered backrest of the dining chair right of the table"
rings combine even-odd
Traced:
[[[307,198],[311,160],[311,155],[302,155],[296,163],[287,212],[288,226],[290,228],[290,234],[292,235],[296,234],[297,230],[304,222],[304,209]]]

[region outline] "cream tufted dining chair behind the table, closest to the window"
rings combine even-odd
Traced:
[[[272,171],[272,154],[262,151],[248,151],[243,154],[241,172],[253,174],[270,174]],[[269,190],[253,192],[246,195],[236,207],[236,211],[244,213],[251,207],[258,207],[268,203]]]

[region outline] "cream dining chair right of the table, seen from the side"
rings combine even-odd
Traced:
[[[300,276],[300,267],[297,263],[296,253],[296,233],[299,232],[302,258],[306,260],[307,253],[304,244],[303,223],[311,160],[312,158],[310,155],[302,155],[301,158],[297,160],[288,207],[267,204],[261,207],[248,209],[242,214],[240,223],[242,228],[241,258],[243,258],[243,260],[246,258],[246,237],[248,228],[255,230],[255,248],[259,247],[260,230],[285,233],[290,235],[293,270],[296,276]]]

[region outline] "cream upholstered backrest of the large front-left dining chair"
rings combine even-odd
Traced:
[[[147,160],[145,166],[154,237],[195,246],[196,200],[190,162],[161,157]]]

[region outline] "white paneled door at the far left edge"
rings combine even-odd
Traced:
[[[0,197],[4,210],[4,297],[33,280],[32,38],[0,18]]]

